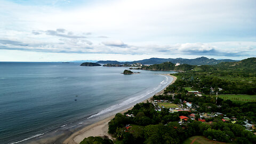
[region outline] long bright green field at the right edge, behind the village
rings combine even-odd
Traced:
[[[215,97],[215,95],[214,95]],[[246,94],[218,94],[219,98],[225,100],[232,100],[232,101],[243,101],[243,102],[250,102],[256,101],[256,95],[246,95]]]

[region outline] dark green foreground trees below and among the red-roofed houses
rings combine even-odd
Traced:
[[[207,97],[198,98],[197,100],[202,105],[204,105],[204,102],[211,103],[212,101],[214,103],[213,99]],[[209,105],[207,103],[205,107]],[[237,107],[233,107],[234,104],[230,104],[229,101],[222,101],[220,103],[225,105],[225,110],[231,110],[231,113],[237,110]],[[227,103],[231,107],[229,105],[226,106]],[[249,108],[246,108],[247,106]],[[252,107],[254,110],[250,111],[249,109]],[[249,102],[245,103],[241,107],[242,111],[238,112],[249,110],[248,113],[254,113],[252,115],[255,116],[255,108],[256,103]],[[211,109],[210,111],[215,110]],[[114,134],[119,143],[182,143],[183,140],[194,135],[204,135],[206,138],[223,142],[231,142],[230,140],[235,143],[256,142],[256,135],[245,130],[242,125],[223,123],[221,121],[223,116],[206,119],[206,122],[213,121],[212,123],[202,123],[190,119],[190,123],[186,124],[180,125],[177,122],[179,116],[188,116],[191,113],[196,112],[179,111],[178,113],[169,113],[169,109],[165,108],[162,111],[155,111],[152,103],[139,103],[126,113],[133,114],[134,117],[116,114],[115,118],[109,122],[109,133]],[[127,126],[125,127],[127,124],[133,125],[127,128]]]

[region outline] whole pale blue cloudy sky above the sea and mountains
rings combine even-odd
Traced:
[[[0,0],[0,61],[256,57],[252,0]]]

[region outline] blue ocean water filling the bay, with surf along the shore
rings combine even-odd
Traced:
[[[0,143],[45,134],[130,105],[167,85],[174,71],[82,67],[80,63],[0,62]],[[24,141],[22,141],[24,142]]]

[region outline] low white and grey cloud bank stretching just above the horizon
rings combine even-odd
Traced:
[[[103,44],[103,45],[102,45]],[[162,54],[162,55],[212,55],[224,57],[255,57],[256,42],[184,43],[174,45],[127,45],[122,41],[106,41],[93,44],[87,39],[60,38],[58,43],[0,40],[2,50],[24,50],[58,53],[105,53],[105,54]],[[226,49],[222,46],[226,44]],[[120,49],[129,48],[129,49]]]

